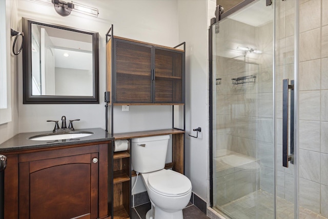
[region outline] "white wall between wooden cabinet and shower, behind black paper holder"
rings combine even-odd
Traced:
[[[207,0],[178,0],[179,40],[186,41],[186,175],[208,201],[209,91]],[[201,127],[198,138],[192,130]]]

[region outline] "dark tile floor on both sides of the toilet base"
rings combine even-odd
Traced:
[[[147,211],[151,208],[150,203],[144,205],[139,205],[132,208],[131,219],[145,219]],[[199,210],[195,205],[189,203],[185,209],[183,209],[184,219],[208,219],[201,210]]]

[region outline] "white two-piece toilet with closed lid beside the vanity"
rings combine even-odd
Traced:
[[[147,219],[183,218],[182,209],[191,197],[189,178],[164,169],[169,139],[170,135],[132,138],[132,166],[141,173],[152,204]]]

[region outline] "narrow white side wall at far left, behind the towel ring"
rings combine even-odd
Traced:
[[[17,101],[17,56],[11,54],[13,39],[10,37],[10,28],[17,30],[17,2],[6,1],[6,14],[7,14],[7,41],[10,42],[10,46],[7,47],[7,54],[10,59],[10,63],[7,64],[7,68],[10,71],[10,96],[11,100],[9,107],[11,108],[11,122],[0,125],[0,144],[18,133],[18,101]],[[19,42],[19,40],[18,40]],[[19,44],[19,43],[18,43]],[[19,54],[21,56],[22,54]],[[3,111],[0,111],[3,113]],[[2,114],[2,116],[4,116]],[[8,115],[6,115],[8,116]]]

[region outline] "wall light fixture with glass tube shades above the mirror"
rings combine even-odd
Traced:
[[[56,12],[61,16],[68,16],[71,14],[72,11],[76,11],[94,17],[97,17],[99,14],[97,8],[89,7],[76,2],[64,2],[60,0],[31,0],[31,1],[54,6]]]

